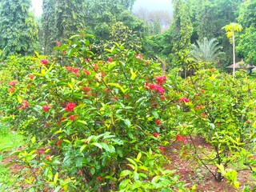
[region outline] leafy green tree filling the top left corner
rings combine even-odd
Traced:
[[[6,55],[34,52],[38,29],[30,6],[30,0],[0,2],[0,49]]]

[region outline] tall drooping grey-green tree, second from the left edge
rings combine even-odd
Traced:
[[[78,34],[85,26],[85,0],[43,0],[42,11],[42,42],[46,54],[50,54],[55,42]]]

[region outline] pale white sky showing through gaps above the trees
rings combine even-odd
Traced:
[[[100,0],[99,0],[100,1]],[[110,0],[111,1],[111,0]],[[42,0],[31,0],[32,10],[34,14],[39,17],[42,14]],[[134,10],[140,7],[146,10],[171,10],[171,0],[136,0],[134,3]]]

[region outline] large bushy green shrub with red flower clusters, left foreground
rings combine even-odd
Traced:
[[[118,190],[127,158],[150,148],[165,155],[165,146],[175,139],[169,114],[162,113],[172,102],[167,103],[170,82],[159,64],[118,44],[98,59],[90,38],[81,34],[58,44],[58,58],[36,55],[18,78],[1,76],[2,94],[15,86],[6,97],[13,107],[4,112],[5,119],[14,118],[13,126],[38,139],[17,152],[23,166],[43,170],[41,178],[28,183],[31,187],[45,182],[46,188],[66,191]],[[23,62],[15,65],[22,68]],[[7,85],[13,79],[18,83]],[[168,179],[172,175],[168,172]],[[176,182],[178,176],[169,185]]]

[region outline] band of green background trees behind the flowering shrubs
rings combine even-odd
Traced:
[[[4,55],[33,54],[34,50],[51,54],[56,42],[86,29],[96,36],[98,52],[118,42],[146,57],[159,58],[168,67],[186,67],[198,62],[200,54],[226,66],[232,60],[232,46],[222,27],[238,22],[243,27],[237,37],[238,58],[256,64],[256,0],[174,0],[173,18],[142,9],[134,14],[134,2],[43,0],[42,17],[36,19],[30,0],[2,0],[0,49]]]

